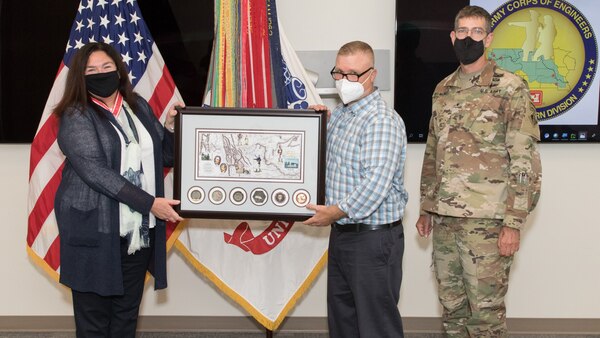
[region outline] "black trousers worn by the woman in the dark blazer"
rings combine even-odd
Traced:
[[[127,242],[121,239],[121,269],[124,294],[101,296],[94,292],[72,290],[75,327],[78,338],[135,337],[137,319],[144,292],[146,271],[152,256],[154,231],[150,230],[150,248],[127,254]]]

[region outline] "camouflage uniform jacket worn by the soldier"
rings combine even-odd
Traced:
[[[527,83],[488,61],[461,88],[459,71],[433,93],[421,214],[503,219],[520,229],[537,204],[542,176]]]

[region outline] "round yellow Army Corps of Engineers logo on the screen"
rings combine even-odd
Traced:
[[[528,83],[538,120],[555,118],[585,95],[596,73],[592,26],[559,0],[508,1],[492,13],[488,56]]]

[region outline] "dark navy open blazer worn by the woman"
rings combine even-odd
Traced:
[[[164,196],[163,167],[173,166],[173,135],[138,97],[134,113],[154,144],[156,196]],[[67,111],[60,119],[58,145],[66,156],[54,201],[60,235],[60,282],[73,290],[122,295],[119,202],[149,214],[154,196],[120,175],[121,141],[112,114]],[[167,287],[166,227],[156,220],[150,272],[155,289]]]

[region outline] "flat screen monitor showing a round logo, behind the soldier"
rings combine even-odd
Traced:
[[[488,58],[527,81],[541,141],[600,142],[600,11],[586,0],[397,1],[394,106],[409,141],[427,140],[431,94],[458,67],[450,41],[454,16],[469,4],[492,15]]]

